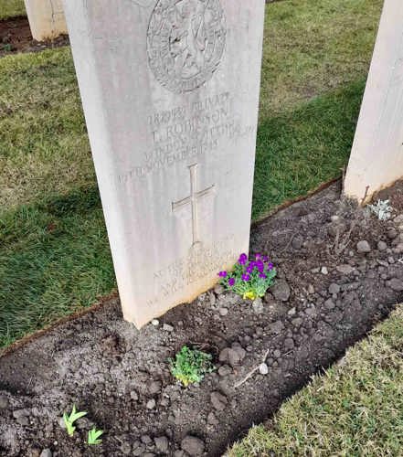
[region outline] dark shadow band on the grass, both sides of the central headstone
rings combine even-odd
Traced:
[[[253,217],[340,175],[365,81],[260,123]],[[116,287],[96,186],[0,217],[0,346]]]

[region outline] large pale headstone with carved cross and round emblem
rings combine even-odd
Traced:
[[[249,249],[264,0],[65,0],[124,317]]]

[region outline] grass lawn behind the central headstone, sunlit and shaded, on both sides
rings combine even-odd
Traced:
[[[253,218],[340,175],[381,5],[268,5]],[[69,48],[0,59],[0,182],[1,346],[115,287]]]

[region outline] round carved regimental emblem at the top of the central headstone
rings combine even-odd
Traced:
[[[164,88],[190,92],[213,76],[226,43],[219,0],[158,0],[147,32],[150,68]]]

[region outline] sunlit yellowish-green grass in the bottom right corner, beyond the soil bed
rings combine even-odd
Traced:
[[[403,305],[228,457],[398,457],[403,450]]]

